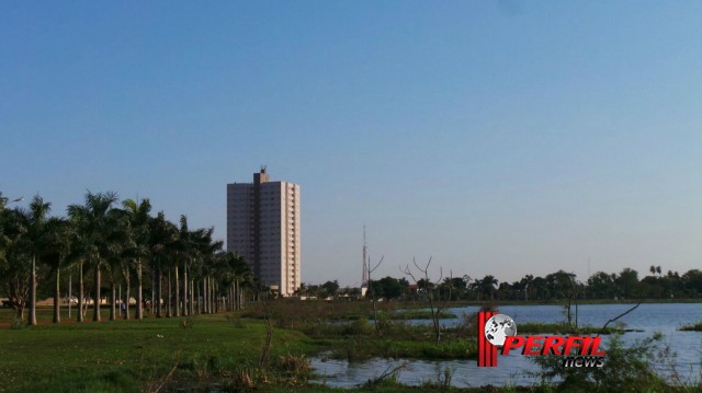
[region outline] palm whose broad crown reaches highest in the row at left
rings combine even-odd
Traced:
[[[93,303],[92,320],[100,321],[100,269],[102,262],[122,234],[118,233],[116,223],[120,211],[112,206],[117,201],[117,195],[113,192],[92,194],[88,192],[84,205],[70,205],[68,215],[78,223],[77,230],[81,233],[83,252],[88,263],[94,269],[95,297]]]

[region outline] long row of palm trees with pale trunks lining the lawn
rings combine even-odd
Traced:
[[[24,320],[29,309],[30,325],[37,323],[39,266],[47,267],[48,277],[55,279],[55,323],[60,322],[60,274],[67,269],[78,273],[79,322],[86,317],[84,274],[89,271],[93,274],[93,321],[100,321],[103,284],[109,288],[110,320],[117,315],[121,285],[126,286],[127,300],[136,299],[137,320],[144,317],[145,304],[152,304],[157,317],[240,309],[246,293],[260,286],[240,256],[224,252],[223,242],[213,240],[213,228],[191,230],[185,216],[178,224],[162,211],[152,216],[149,199],[125,199],[120,206],[115,193],[88,192],[82,205],[68,207],[66,217],[49,216],[50,204],[38,195],[29,208],[10,209],[7,200],[0,194],[0,286],[19,317]],[[151,299],[147,301],[143,289],[149,276]],[[128,319],[128,301],[125,307]]]

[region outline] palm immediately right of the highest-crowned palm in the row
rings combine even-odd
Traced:
[[[144,300],[141,261],[149,255],[149,220],[151,219],[149,212],[151,211],[151,203],[149,199],[141,199],[140,204],[137,204],[133,199],[125,199],[122,203],[122,206],[124,207],[127,219],[129,220],[132,238],[131,257],[134,261],[136,268],[136,319],[141,320],[144,317],[144,310],[141,307]],[[127,317],[129,315],[128,299],[129,296],[127,293]]]

